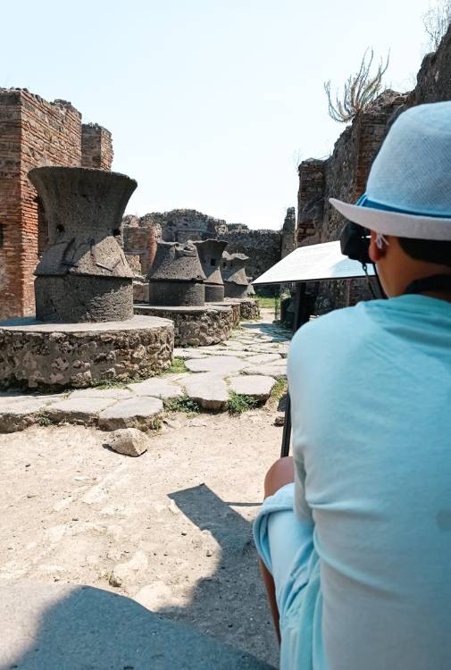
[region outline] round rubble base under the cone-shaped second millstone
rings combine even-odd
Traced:
[[[160,307],[135,305],[135,314],[160,316],[174,323],[176,347],[205,347],[230,338],[233,329],[233,311],[230,306]]]

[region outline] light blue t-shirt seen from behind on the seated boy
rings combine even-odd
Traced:
[[[320,557],[313,667],[451,668],[451,303],[310,322],[288,381],[295,509]]]

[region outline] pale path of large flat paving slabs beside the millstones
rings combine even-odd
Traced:
[[[168,415],[179,411],[173,409],[179,402],[180,411],[189,400],[199,411],[226,412],[230,398],[238,395],[263,405],[286,375],[290,338],[280,324],[265,322],[265,311],[262,321],[245,322],[226,342],[175,348],[178,369],[172,367],[146,381],[54,394],[0,391],[0,433],[23,431],[37,423],[155,431]]]

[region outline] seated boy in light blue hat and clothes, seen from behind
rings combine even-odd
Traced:
[[[401,114],[357,205],[388,300],[306,324],[255,544],[280,667],[451,668],[451,103]]]

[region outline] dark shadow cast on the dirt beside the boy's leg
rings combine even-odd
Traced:
[[[252,539],[252,527],[230,508],[259,502],[224,502],[205,484],[169,496],[201,531],[221,547],[215,573],[196,584],[188,606],[166,607],[159,614],[189,622],[218,640],[229,641],[274,665],[278,649]],[[255,602],[257,606],[255,607]]]

